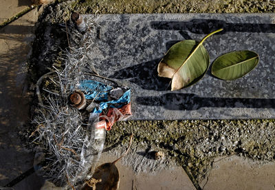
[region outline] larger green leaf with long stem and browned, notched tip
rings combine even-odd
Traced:
[[[173,45],[159,62],[157,72],[159,77],[170,78],[172,80],[171,90],[191,86],[198,82],[209,67],[209,55],[203,42],[217,32],[205,36],[200,43],[195,40],[183,40]]]

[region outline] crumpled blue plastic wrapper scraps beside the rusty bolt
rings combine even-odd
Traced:
[[[86,99],[94,99],[100,102],[99,108],[94,108],[92,111],[94,113],[101,113],[102,110],[108,108],[108,106],[111,108],[121,108],[131,101],[131,90],[126,91],[119,99],[108,101],[108,95],[113,87],[94,80],[84,80],[80,82],[79,88],[85,94]]]

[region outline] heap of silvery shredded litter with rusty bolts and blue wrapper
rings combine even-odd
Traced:
[[[80,14],[72,14],[72,21],[77,29],[67,28],[72,38],[63,63],[36,84],[39,106],[30,136],[39,145],[36,171],[74,189],[93,175],[106,130],[131,116],[131,90],[99,76],[89,61],[95,24],[86,25]]]

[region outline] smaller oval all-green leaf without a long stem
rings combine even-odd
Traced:
[[[254,51],[232,51],[219,56],[212,64],[212,75],[223,80],[243,77],[256,67],[259,55]]]

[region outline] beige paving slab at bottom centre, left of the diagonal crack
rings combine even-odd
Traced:
[[[195,190],[195,186],[184,171],[184,169],[175,163],[169,163],[170,167],[165,168],[157,166],[157,163],[165,161],[152,160],[142,156],[137,150],[129,153],[128,156],[122,158],[116,163],[116,167],[120,172],[120,189],[180,189],[184,187],[186,190]],[[123,150],[118,152],[104,152],[100,157],[98,165],[114,161],[122,154]],[[119,154],[120,153],[120,154]],[[148,156],[148,155],[147,155]],[[135,158],[134,158],[135,157]],[[137,158],[137,157],[140,157]],[[133,163],[140,160],[140,166]],[[164,159],[165,160],[165,159]],[[148,165],[148,162],[151,164]],[[147,164],[146,164],[147,163]],[[143,165],[144,164],[144,165]],[[141,166],[143,165],[143,166]],[[137,169],[135,167],[144,167]],[[154,170],[154,171],[149,171]]]

